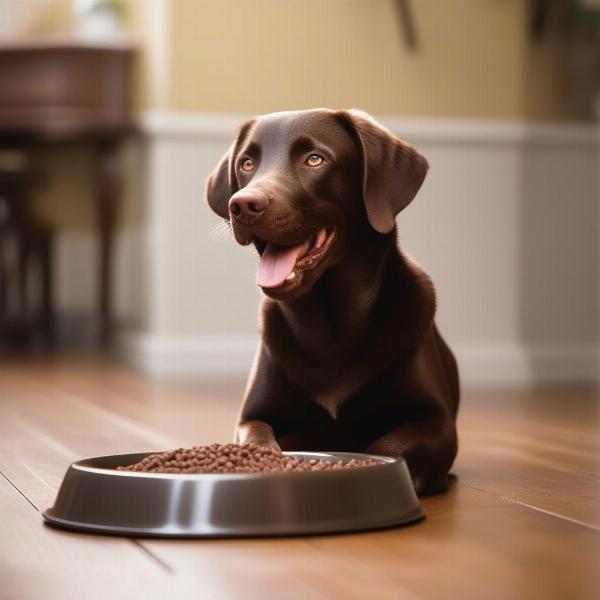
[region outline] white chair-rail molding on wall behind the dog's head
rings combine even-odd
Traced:
[[[248,115],[150,110],[139,118],[141,130],[161,139],[218,139],[230,142]],[[582,122],[531,122],[519,119],[401,118],[381,123],[414,143],[576,145],[600,148],[600,125]]]

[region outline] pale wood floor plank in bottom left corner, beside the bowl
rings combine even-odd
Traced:
[[[45,527],[41,515],[0,475],[0,597],[164,598],[173,576],[133,544]]]

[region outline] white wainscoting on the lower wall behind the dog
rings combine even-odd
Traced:
[[[122,351],[147,373],[249,369],[260,299],[256,257],[211,233],[219,219],[203,200],[204,180],[243,120],[156,112],[142,119],[146,221],[144,249],[133,253],[143,264],[132,276],[144,274],[144,318],[124,336]],[[597,128],[381,121],[431,164],[399,217],[400,240],[434,279],[438,324],[463,383],[597,381]]]

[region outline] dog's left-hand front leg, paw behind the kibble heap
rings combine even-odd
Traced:
[[[295,410],[295,394],[294,386],[261,342],[235,430],[236,443],[254,443],[279,450],[277,437]]]

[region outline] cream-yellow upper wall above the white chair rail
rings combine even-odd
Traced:
[[[160,3],[135,6],[147,11]],[[578,116],[557,85],[560,32],[554,27],[533,45],[522,0],[412,2],[414,51],[404,45],[394,0],[167,5],[168,82],[159,108],[264,113],[357,106],[378,115]]]

